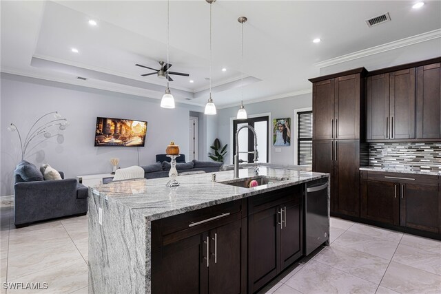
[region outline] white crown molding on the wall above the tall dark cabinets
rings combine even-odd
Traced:
[[[424,32],[422,34],[417,34],[415,36],[409,36],[407,38],[404,39],[400,39],[397,41],[392,41],[389,43],[385,43],[382,45],[378,45],[375,47],[371,47],[365,50],[360,50],[357,52],[353,52],[350,54],[346,54],[346,55],[342,55],[342,56],[338,56],[334,59],[328,59],[325,61],[320,61],[318,63],[314,63],[314,65],[316,67],[327,67],[330,65],[336,65],[338,63],[344,63],[346,61],[351,61],[354,59],[360,59],[362,57],[365,56],[370,56],[373,54],[378,54],[381,52],[387,52],[390,50],[395,50],[398,48],[402,48],[402,47],[406,47],[409,45],[414,45],[417,43],[422,43],[422,42],[426,42],[426,41],[430,41],[433,39],[437,39],[437,38],[441,38],[441,29],[437,29],[437,30],[432,30],[430,32]]]

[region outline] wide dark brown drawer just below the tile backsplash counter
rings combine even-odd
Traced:
[[[421,174],[368,171],[367,180],[380,180],[382,182],[397,182],[400,184],[438,186],[438,176],[421,175]]]

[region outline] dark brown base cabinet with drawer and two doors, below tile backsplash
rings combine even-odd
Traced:
[[[438,176],[362,171],[361,217],[441,233]]]

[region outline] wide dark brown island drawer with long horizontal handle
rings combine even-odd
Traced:
[[[246,199],[214,205],[152,222],[152,248],[246,216]]]

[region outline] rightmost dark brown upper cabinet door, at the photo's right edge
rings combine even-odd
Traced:
[[[416,138],[441,138],[441,63],[417,68]]]

